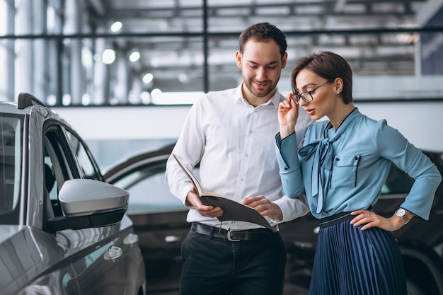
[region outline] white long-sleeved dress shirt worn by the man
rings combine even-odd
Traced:
[[[309,212],[306,199],[301,198],[304,200],[301,202],[299,198],[282,195],[274,150],[275,134],[280,131],[277,110],[284,99],[277,91],[267,103],[254,107],[243,98],[241,86],[207,93],[192,105],[173,153],[191,171],[200,162],[200,183],[206,192],[237,202],[263,195],[280,207],[282,221],[303,216]],[[300,108],[297,137],[304,138],[311,124],[311,118]],[[299,148],[301,144],[299,142]],[[166,180],[172,194],[185,204],[192,183],[173,156],[168,158]],[[218,219],[202,216],[192,208],[187,221],[220,226]],[[276,221],[270,223],[277,224]],[[222,228],[231,230],[258,227],[244,221],[222,223]]]

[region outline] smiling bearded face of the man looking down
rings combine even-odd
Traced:
[[[280,72],[286,66],[287,54],[280,57],[280,47],[274,40],[249,40],[243,54],[236,52],[236,60],[243,77],[243,96],[262,103],[269,100],[275,93]]]

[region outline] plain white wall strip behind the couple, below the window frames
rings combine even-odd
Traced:
[[[415,146],[443,151],[443,102],[355,103],[376,120],[386,119]],[[84,139],[174,139],[190,105],[53,108]]]

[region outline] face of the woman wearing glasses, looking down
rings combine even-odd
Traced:
[[[312,120],[319,120],[324,116],[330,117],[330,115],[333,115],[338,98],[334,92],[333,81],[326,83],[328,82],[327,79],[318,76],[309,69],[302,69],[297,74],[295,82],[299,93],[303,93],[305,98],[310,99],[311,96],[313,98],[309,103],[306,103],[303,99],[299,101],[300,106],[306,110]],[[311,96],[309,96],[309,93],[306,93],[308,91],[311,91]]]

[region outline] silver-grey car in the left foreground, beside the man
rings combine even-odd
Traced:
[[[144,295],[129,194],[37,98],[0,103],[2,295]]]

